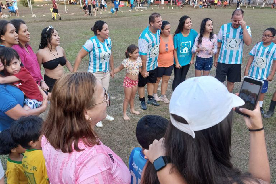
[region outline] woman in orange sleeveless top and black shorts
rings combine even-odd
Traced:
[[[170,34],[170,23],[163,21],[160,34],[158,67],[157,67],[157,80],[154,84],[153,96],[156,101],[163,101],[169,103],[170,101],[166,97],[166,91],[168,87],[168,81],[173,72],[173,34]],[[157,88],[162,78],[161,83],[161,96],[157,95]]]

